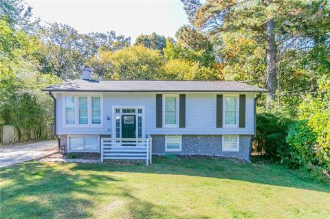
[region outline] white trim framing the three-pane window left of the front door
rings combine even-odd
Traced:
[[[74,124],[67,124],[66,121],[66,113],[65,110],[65,98],[67,96],[74,97]],[[62,105],[63,105],[63,127],[97,127],[102,128],[103,127],[103,95],[102,93],[63,93],[62,95]],[[78,97],[87,97],[87,111],[88,111],[88,124],[79,124],[79,109],[78,109]],[[100,97],[100,111],[101,111],[101,124],[91,124],[91,97]]]

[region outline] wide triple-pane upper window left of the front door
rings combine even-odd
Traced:
[[[102,95],[64,95],[64,126],[101,126]]]

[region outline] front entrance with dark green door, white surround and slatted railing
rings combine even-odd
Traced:
[[[101,162],[145,160],[146,165],[152,162],[152,139],[145,134],[144,106],[113,106],[112,130],[115,138],[101,139]]]

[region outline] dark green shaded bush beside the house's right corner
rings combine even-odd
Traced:
[[[292,119],[278,112],[257,114],[253,152],[280,159],[281,151],[287,148],[285,138],[290,124]]]

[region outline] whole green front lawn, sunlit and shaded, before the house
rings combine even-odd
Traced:
[[[330,185],[266,163],[28,162],[0,173],[1,218],[330,218]]]

